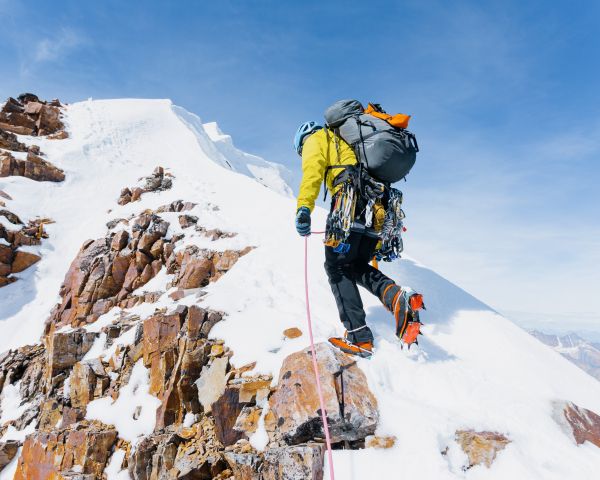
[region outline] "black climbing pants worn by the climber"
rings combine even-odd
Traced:
[[[346,240],[350,244],[348,253],[336,253],[332,247],[325,247],[325,271],[329,285],[340,320],[348,331],[348,340],[353,343],[373,341],[373,333],[365,322],[365,310],[357,285],[381,300],[385,288],[394,284],[392,279],[369,264],[377,241],[377,238],[352,232]]]

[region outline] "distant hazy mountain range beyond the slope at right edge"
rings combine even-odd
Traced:
[[[576,333],[563,336],[547,334],[538,330],[533,330],[530,333],[579,368],[600,380],[600,343],[586,340]]]

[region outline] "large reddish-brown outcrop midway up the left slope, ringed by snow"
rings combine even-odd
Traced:
[[[132,293],[164,267],[174,274],[173,286],[192,289],[217,280],[241,252],[212,252],[188,247],[175,253],[181,237],[166,238],[169,223],[155,213],[121,219],[127,230],[84,243],[61,287],[62,302],[48,325],[73,327],[94,322],[114,306],[126,307]],[[130,233],[131,232],[131,233]]]

